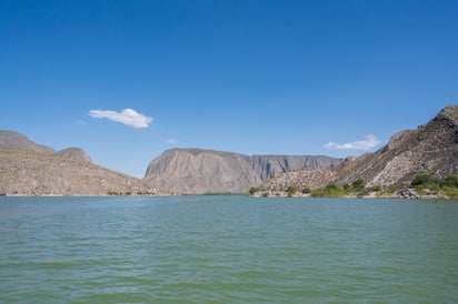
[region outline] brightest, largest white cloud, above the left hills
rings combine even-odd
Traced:
[[[148,128],[152,121],[151,118],[138,113],[132,109],[125,109],[120,113],[110,110],[91,110],[89,111],[89,115],[94,119],[109,119],[139,129]]]

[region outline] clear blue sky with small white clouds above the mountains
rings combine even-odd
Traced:
[[[455,0],[2,0],[0,129],[136,176],[171,148],[359,155],[458,103],[457,16]]]

